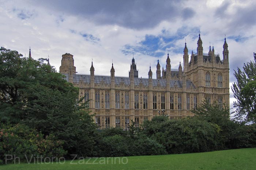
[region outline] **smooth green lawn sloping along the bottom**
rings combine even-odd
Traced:
[[[40,160],[40,159],[39,159]],[[114,162],[116,161],[116,162]],[[105,162],[105,163],[104,163]],[[122,163],[123,162],[123,163]],[[37,163],[37,162],[35,162]],[[49,163],[49,161],[46,161]],[[136,156],[117,158],[97,158],[75,161],[62,161],[54,163],[34,164],[34,159],[30,164],[8,164],[1,165],[4,170],[255,170],[256,169],[256,148],[223,150],[207,153],[176,154],[176,155],[156,155],[156,156]]]

